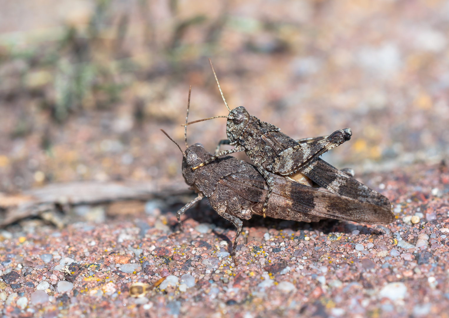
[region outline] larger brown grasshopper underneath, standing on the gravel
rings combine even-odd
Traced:
[[[186,127],[187,125],[184,136],[187,146]],[[192,169],[211,154],[199,143],[188,146],[183,151],[176,141],[168,135],[167,137],[182,153],[182,174],[185,182],[198,193],[195,199],[176,213],[180,229],[182,230],[180,217],[185,211],[207,197],[212,208],[237,228],[233,242],[233,256],[242,231],[241,219],[249,220],[254,214],[304,222],[334,218],[366,224],[386,224],[394,220],[389,208],[316,189],[271,172],[268,173],[273,180],[272,195],[267,208],[264,209],[263,204],[270,189],[265,182],[265,176],[255,166],[232,156],[224,156]]]

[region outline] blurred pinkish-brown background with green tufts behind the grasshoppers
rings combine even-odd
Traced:
[[[0,0],[0,192],[184,182],[159,129],[184,145],[189,84],[190,120],[228,114],[207,57],[231,108],[294,138],[352,128],[324,159],[356,177],[439,163],[448,35],[448,0]]]

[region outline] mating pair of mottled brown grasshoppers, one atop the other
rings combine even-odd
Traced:
[[[229,110],[228,116],[216,116],[228,119],[228,139],[220,141],[216,155],[207,153],[201,144],[190,146],[185,152],[176,144],[183,154],[185,181],[198,193],[197,198],[177,212],[178,222],[186,210],[206,196],[212,208],[238,229],[234,255],[242,229],[240,219],[248,220],[252,214],[306,222],[334,218],[386,224],[394,220],[390,201],[385,196],[319,158],[349,140],[352,134],[349,128],[329,136],[295,141],[276,126],[249,115],[244,107],[230,110],[212,64],[211,67]],[[207,120],[188,123],[188,114],[189,106],[183,125],[186,146],[187,125]],[[218,152],[221,144],[236,147]],[[255,165],[227,156],[238,151],[245,151]],[[305,185],[308,179],[330,192]]]

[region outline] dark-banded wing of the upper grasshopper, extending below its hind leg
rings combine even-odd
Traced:
[[[330,192],[391,210],[390,200],[386,196],[349,177],[321,158],[314,159],[300,172]]]

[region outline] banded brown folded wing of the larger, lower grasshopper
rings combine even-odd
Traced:
[[[314,189],[277,175],[273,175],[273,178],[275,185],[270,204],[316,216],[366,224],[387,224],[394,220],[391,211],[374,204]],[[268,191],[264,178],[254,167],[245,169],[244,173],[232,173],[221,179],[220,183],[252,202],[263,202]]]

